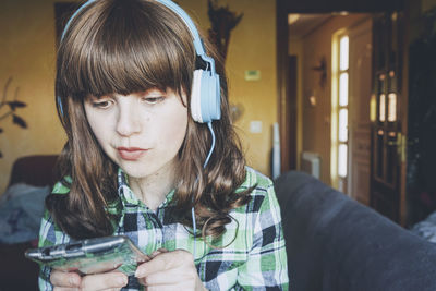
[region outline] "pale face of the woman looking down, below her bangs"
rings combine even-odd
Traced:
[[[129,177],[173,172],[187,126],[187,108],[174,92],[89,96],[84,107],[101,148]]]

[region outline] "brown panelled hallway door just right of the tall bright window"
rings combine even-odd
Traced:
[[[372,94],[372,19],[349,29],[350,38],[350,113],[349,177],[347,193],[370,205]]]

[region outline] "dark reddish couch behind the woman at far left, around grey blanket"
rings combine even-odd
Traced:
[[[34,186],[52,186],[58,156],[36,155],[21,157],[12,166],[9,186],[25,183]],[[38,290],[39,267],[24,257],[25,250],[35,247],[37,238],[27,242],[0,244],[0,291]]]

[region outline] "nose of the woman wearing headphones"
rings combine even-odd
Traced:
[[[119,106],[117,121],[117,132],[121,136],[131,136],[142,130],[140,112],[137,106],[132,102],[123,102]]]

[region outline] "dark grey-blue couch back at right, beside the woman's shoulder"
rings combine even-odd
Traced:
[[[436,290],[436,244],[306,173],[283,173],[275,186],[290,290]]]

